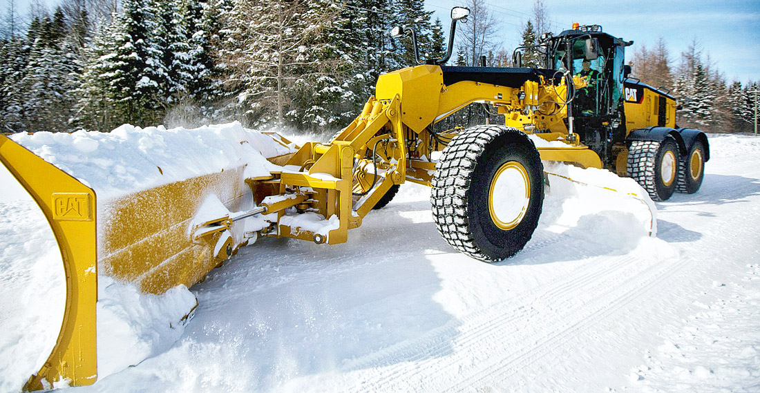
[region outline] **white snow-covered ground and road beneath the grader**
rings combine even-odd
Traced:
[[[497,264],[451,249],[410,183],[346,244],[259,239],[191,288],[174,344],[74,391],[760,391],[760,138],[710,138],[701,190],[657,203],[654,238],[641,201],[549,176],[533,239]],[[18,305],[56,276],[23,266],[57,250],[0,192],[0,284],[30,287],[0,289],[0,376],[28,374],[18,343],[55,340],[55,304]]]

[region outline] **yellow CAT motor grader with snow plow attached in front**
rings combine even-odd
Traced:
[[[328,143],[306,143],[277,157],[281,170],[268,176],[224,170],[109,201],[110,213],[96,217],[95,192],[75,173],[0,137],[0,160],[46,215],[67,276],[58,342],[25,389],[97,379],[98,274],[160,294],[202,280],[258,236],[346,242],[349,230],[407,181],[431,187],[443,238],[483,261],[515,255],[534,233],[544,195],[542,160],[631,176],[654,200],[699,189],[708,140],[676,127],[676,101],[668,93],[629,77],[624,51],[632,42],[599,26],[574,26],[528,48],[542,53],[546,68],[445,66],[457,23],[469,12],[452,9],[445,58],[382,74],[375,96],[350,125]],[[413,33],[397,27],[392,35],[407,31]],[[519,50],[515,61],[521,62]],[[471,103],[495,107],[505,124],[436,128]],[[224,194],[220,200],[237,213],[198,223],[193,217],[212,193]],[[241,202],[246,198],[249,206]],[[254,216],[268,226],[231,235]],[[188,223],[195,223],[191,230]]]

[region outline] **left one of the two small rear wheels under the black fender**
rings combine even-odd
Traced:
[[[632,141],[628,176],[644,188],[653,201],[667,201],[678,183],[679,153],[673,138],[662,142]]]

